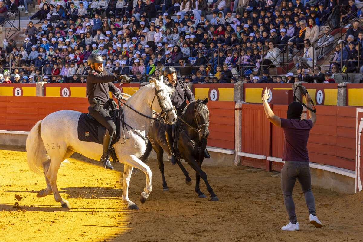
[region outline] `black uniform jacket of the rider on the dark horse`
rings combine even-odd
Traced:
[[[172,85],[169,83],[169,86]],[[181,115],[181,112],[187,106],[187,100],[193,102],[195,98],[187,83],[183,81],[176,81],[174,88],[175,91],[171,94],[171,103],[176,108],[177,114]]]

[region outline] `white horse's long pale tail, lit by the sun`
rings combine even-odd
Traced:
[[[40,136],[41,123],[42,120],[38,121],[30,130],[28,138],[26,138],[26,158],[28,166],[32,172],[38,174],[42,173],[42,163],[49,159]]]

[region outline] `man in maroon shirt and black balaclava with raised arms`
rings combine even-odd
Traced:
[[[295,204],[292,198],[292,193],[296,179],[300,182],[301,189],[305,196],[305,202],[310,214],[310,223],[317,228],[323,225],[318,220],[315,214],[315,200],[311,191],[310,165],[309,154],[306,148],[309,133],[313,128],[316,115],[315,112],[308,110],[310,119],[301,120],[303,106],[299,102],[291,102],[287,109],[287,119],[280,118],[271,110],[267,100],[269,99],[269,89],[265,89],[262,96],[262,103],[267,118],[277,127],[284,129],[284,153],[282,160],[285,161],[284,167],[281,170],[281,190],[284,195],[284,203],[289,214],[290,222],[286,226],[282,226],[282,230],[299,230],[295,214]],[[310,104],[311,97],[305,95],[306,106],[313,108]]]

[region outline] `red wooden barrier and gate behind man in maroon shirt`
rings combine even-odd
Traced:
[[[273,105],[275,114],[286,118],[287,105]],[[356,108],[317,106],[317,122],[310,131],[307,149],[311,162],[355,169]],[[309,118],[309,117],[308,117]],[[269,133],[271,127],[271,133]],[[271,134],[271,136],[269,136]],[[257,155],[282,157],[284,132],[269,123],[262,105],[242,105],[241,151]],[[271,151],[269,151],[271,147]],[[264,160],[243,158],[242,164],[265,168]],[[272,162],[280,171],[283,163]],[[266,163],[266,168],[268,165]]]

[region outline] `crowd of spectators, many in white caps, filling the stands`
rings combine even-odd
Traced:
[[[30,2],[0,1],[0,13],[28,13]],[[41,0],[23,44],[9,40],[0,50],[7,69],[0,82],[85,82],[91,53],[101,54],[108,73],[134,82],[158,77],[168,65],[193,83],[343,82],[343,69],[363,72],[363,30],[355,20],[333,45],[333,29],[325,26],[336,6],[342,24],[359,17],[354,0]],[[318,61],[333,51],[323,73]],[[294,73],[269,74],[288,61]]]

